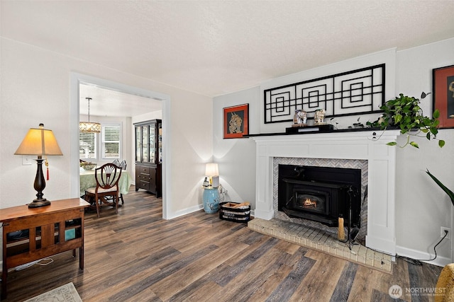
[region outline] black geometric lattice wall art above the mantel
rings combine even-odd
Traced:
[[[289,122],[302,109],[314,117],[324,109],[326,117],[381,112],[384,104],[384,65],[323,76],[264,91],[265,124]]]

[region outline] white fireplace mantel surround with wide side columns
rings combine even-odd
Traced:
[[[255,216],[270,220],[273,209],[273,158],[367,160],[366,246],[395,255],[396,141],[399,130],[331,132],[253,137],[256,143]],[[277,211],[277,209],[276,209]]]

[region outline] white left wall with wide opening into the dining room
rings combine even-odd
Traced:
[[[53,130],[64,154],[49,158],[50,180],[44,197],[50,200],[77,197],[71,195],[70,175],[74,144],[70,139],[70,129],[74,128],[70,124],[72,71],[170,95],[167,168],[172,181],[167,183],[170,187],[167,218],[201,207],[200,178],[206,158],[213,151],[211,98],[13,40],[1,38],[0,42],[1,208],[26,204],[35,198],[36,165],[22,165],[21,156],[13,153],[28,129],[40,122]],[[204,134],[200,135],[199,129],[205,129]]]

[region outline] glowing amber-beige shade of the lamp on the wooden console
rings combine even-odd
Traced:
[[[26,137],[14,154],[38,156],[63,155],[52,130],[44,129],[44,124],[40,124],[39,128],[28,130]]]

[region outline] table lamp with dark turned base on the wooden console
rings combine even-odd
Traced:
[[[33,199],[33,202],[28,204],[28,207],[36,208],[50,205],[50,201],[43,197],[43,190],[45,188],[43,175],[43,161],[45,161],[45,159],[43,159],[43,156],[63,155],[52,130],[44,129],[44,124],[40,124],[39,128],[31,128],[28,130],[26,137],[14,154],[38,156],[38,158],[35,159],[38,168],[36,170],[34,183],[35,190],[38,194],[36,194],[36,198]]]

